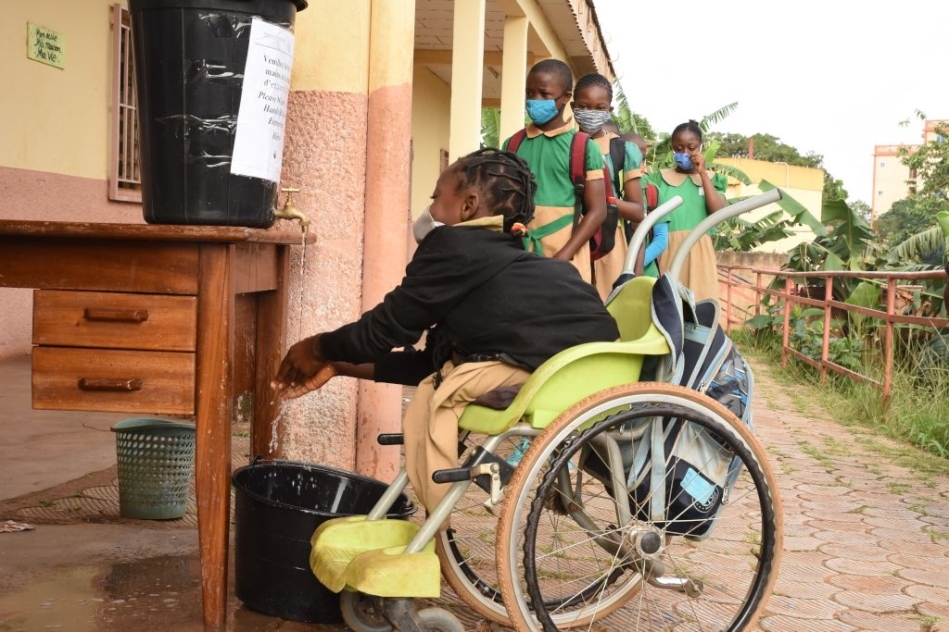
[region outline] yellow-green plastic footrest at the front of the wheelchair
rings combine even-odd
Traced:
[[[310,540],[310,568],[333,592],[358,590],[378,597],[439,597],[441,574],[434,541],[404,553],[419,525],[405,520],[334,518]]]

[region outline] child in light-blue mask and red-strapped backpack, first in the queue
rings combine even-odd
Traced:
[[[535,64],[527,75],[526,109],[531,123],[522,130],[515,153],[530,166],[537,179],[537,211],[530,230],[530,250],[571,262],[588,282],[592,281],[590,238],[606,219],[603,157],[588,141],[584,158],[586,179],[583,201],[586,212],[575,218],[576,192],[570,179],[570,146],[576,130],[564,116],[570,101],[573,73],[558,59]],[[512,138],[502,148],[511,146]]]

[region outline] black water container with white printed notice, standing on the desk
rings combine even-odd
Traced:
[[[146,222],[273,223],[292,28],[306,6],[306,0],[129,0]]]

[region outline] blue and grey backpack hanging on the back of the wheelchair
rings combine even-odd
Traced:
[[[670,381],[705,393],[754,431],[750,402],[754,376],[718,323],[717,301],[697,305],[685,300],[677,282],[660,277],[652,292],[653,323],[672,349],[669,375],[649,379]],[[620,444],[630,508],[666,533],[702,539],[741,473],[741,460],[704,428],[684,419],[638,420],[631,427],[636,441]],[[586,472],[612,490],[613,478],[603,456],[588,451]]]

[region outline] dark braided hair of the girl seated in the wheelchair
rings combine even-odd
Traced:
[[[534,219],[537,181],[517,154],[485,147],[458,159],[459,187],[481,188],[494,215],[504,216],[504,232],[522,233]]]

